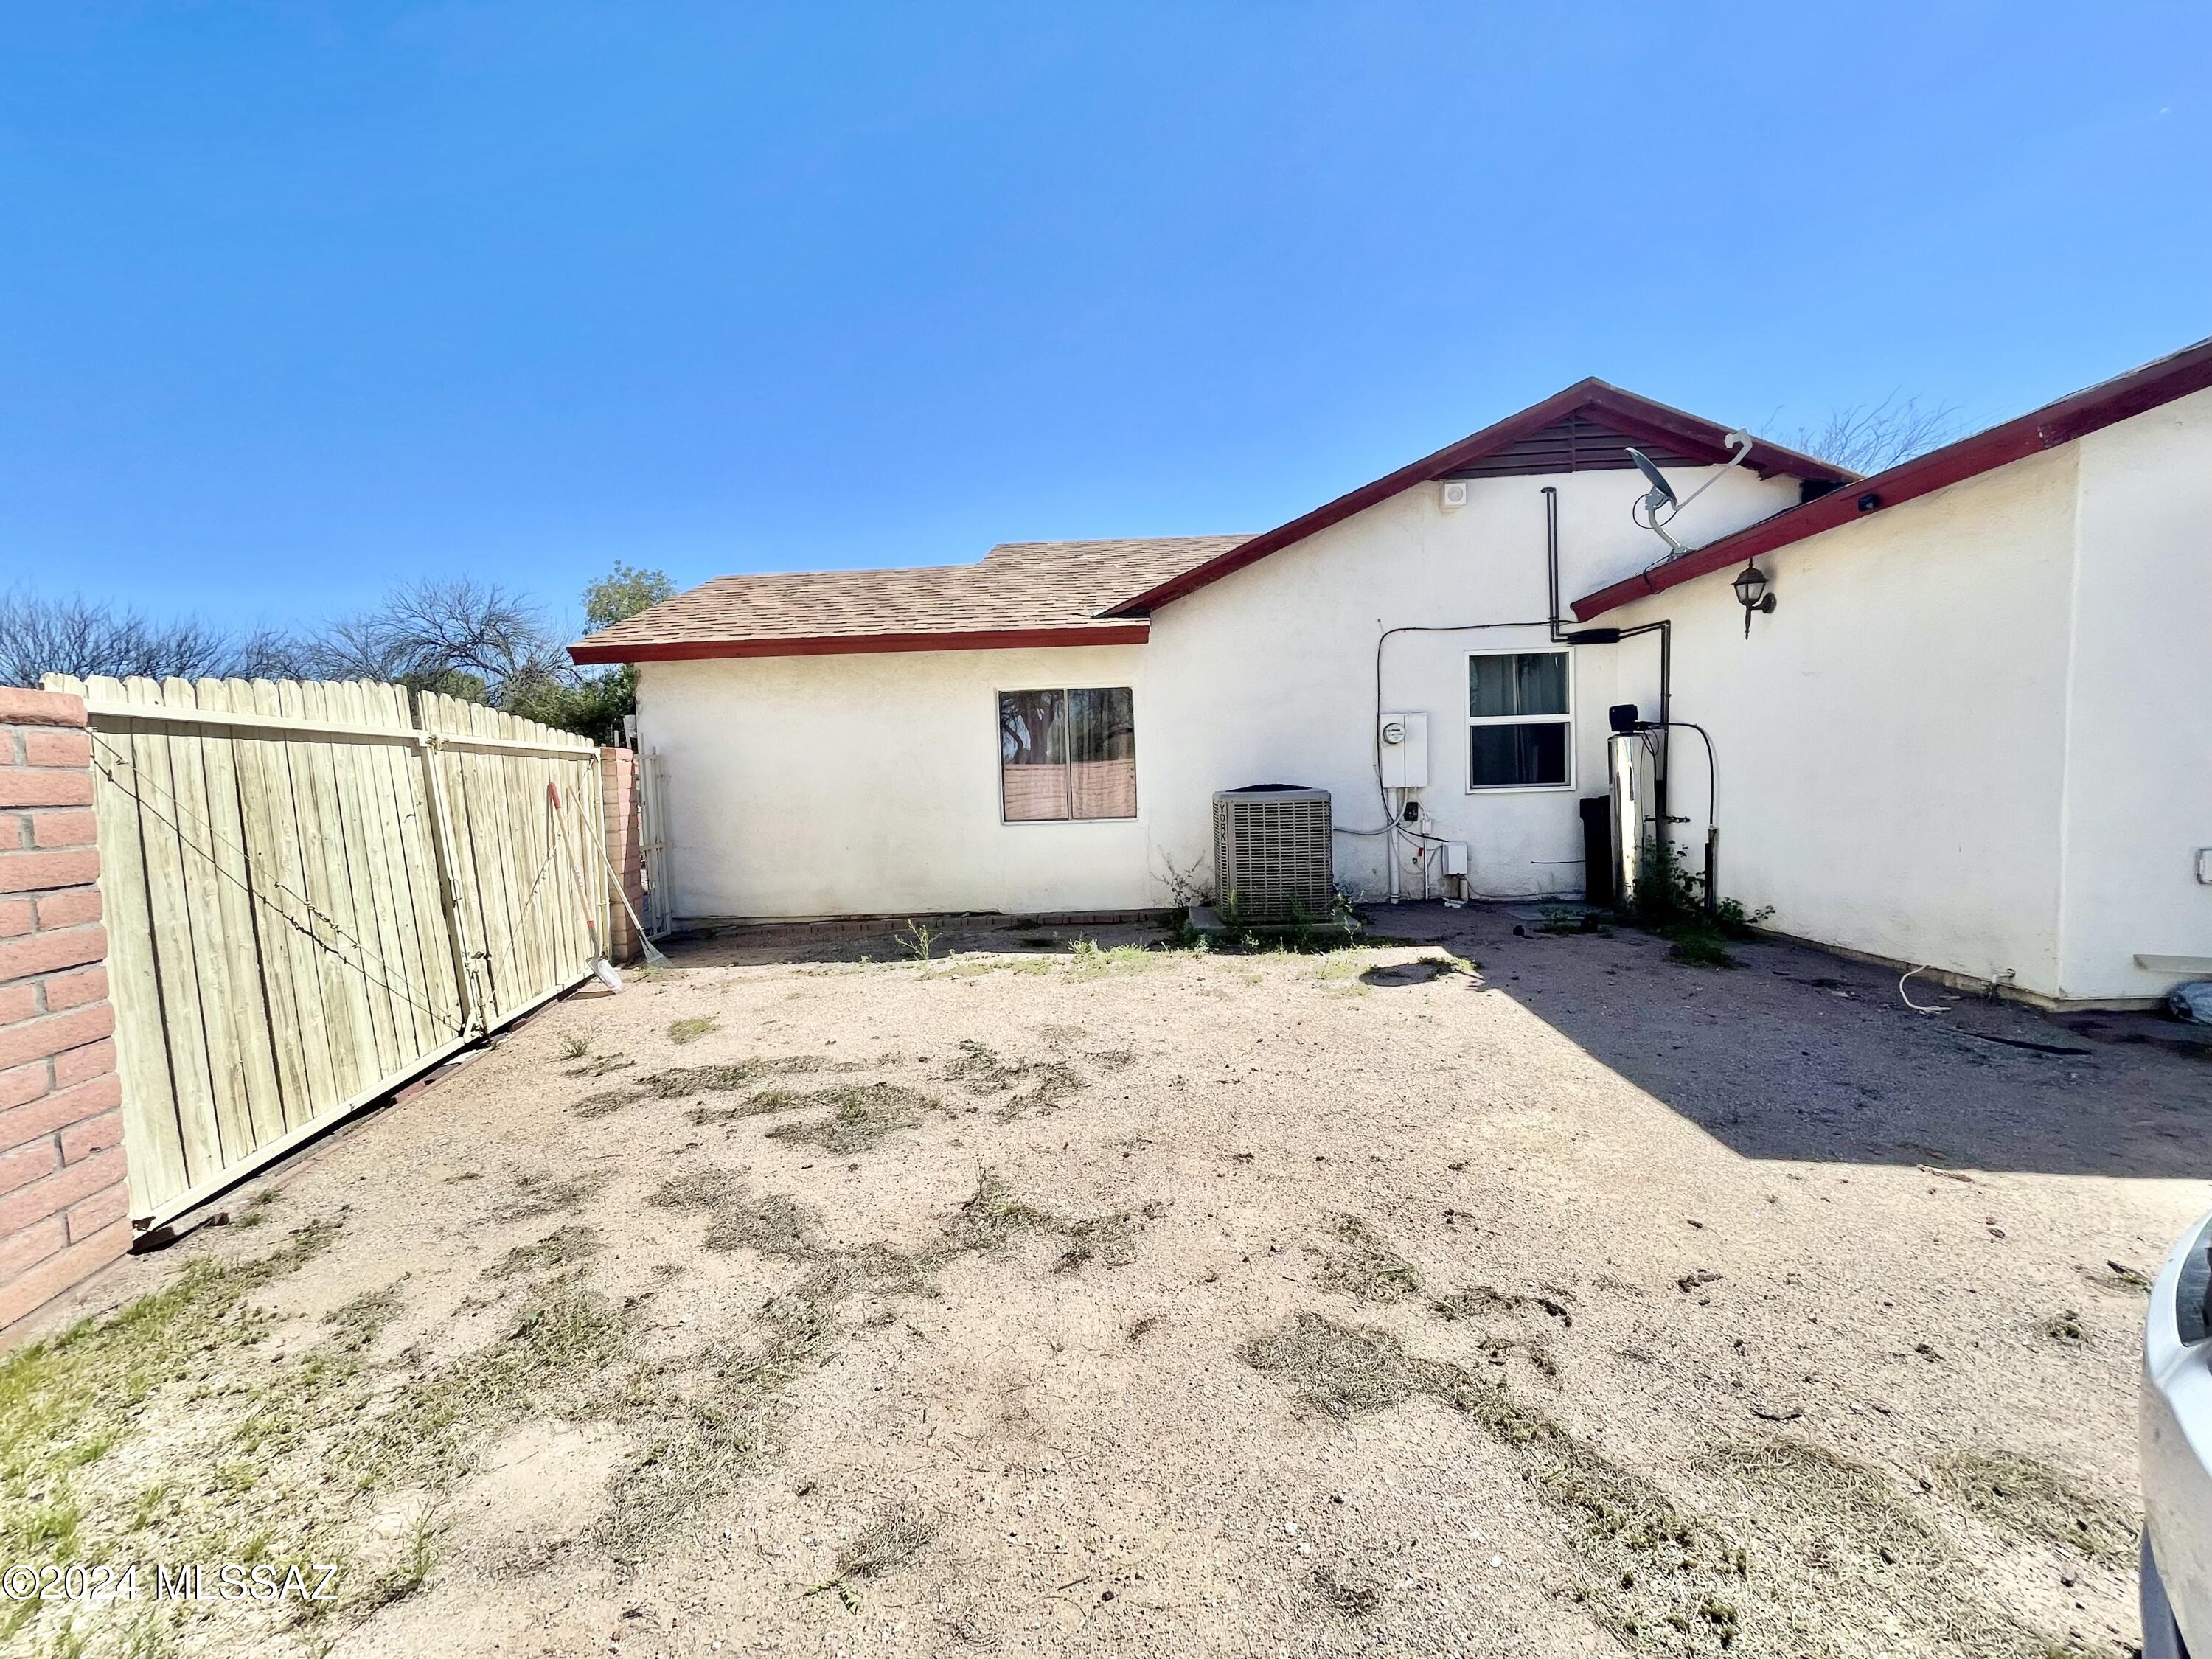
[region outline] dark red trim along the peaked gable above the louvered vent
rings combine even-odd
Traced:
[[[1312,513],[1294,518],[1287,524],[1279,524],[1263,535],[1254,535],[1250,542],[1239,542],[1228,553],[1219,553],[1206,564],[1197,564],[1181,575],[1139,593],[1135,599],[1117,604],[1108,615],[1141,615],[1168,604],[1170,599],[1181,599],[1186,593],[1197,593],[1232,571],[1241,571],[1270,553],[1281,553],[1285,546],[1303,542],[1316,531],[1325,531],[1329,524],[1340,524],[1354,513],[1363,513],[1376,502],[1385,502],[1413,484],[1425,484],[1431,478],[1442,478],[1455,467],[1469,465],[1471,460],[1498,453],[1520,438],[1542,431],[1555,420],[1564,420],[1582,409],[1593,409],[1606,416],[1624,431],[1663,438],[1683,453],[1710,456],[1714,465],[1728,460],[1730,453],[1725,442],[1728,431],[1710,420],[1699,420],[1694,414],[1683,409],[1639,398],[1635,392],[1624,392],[1621,387],[1604,380],[1577,380],[1564,392],[1551,394],[1542,403],[1531,403],[1520,414],[1506,416],[1478,434],[1460,438],[1455,445],[1438,449],[1433,456],[1422,456],[1394,473],[1376,478],[1371,484],[1360,484],[1347,495],[1338,495],[1334,502],[1316,507]],[[1801,456],[1794,449],[1783,449],[1781,445],[1770,445],[1765,440],[1752,445],[1752,453],[1745,465],[1763,478],[1787,473],[1792,478],[1818,478],[1836,484],[1845,484],[1856,478],[1856,473],[1825,460],[1814,460],[1812,456]]]

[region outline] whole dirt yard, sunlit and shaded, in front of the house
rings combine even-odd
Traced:
[[[1383,927],[546,1009],[0,1367],[7,1557],[144,1564],[4,1644],[2132,1646],[2143,1274],[2212,1206],[2177,1026]],[[195,1562],[336,1599],[153,1599]]]

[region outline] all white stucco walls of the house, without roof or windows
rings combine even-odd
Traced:
[[[1679,478],[1688,493],[1701,473]],[[648,664],[679,916],[1082,911],[1210,878],[1210,796],[1312,783],[1378,830],[1380,706],[1429,717],[1429,834],[1489,896],[1577,894],[1577,796],[1606,787],[1606,706],[1657,714],[1657,639],[1573,653],[1575,776],[1467,790],[1467,653],[1546,641],[1544,484],[1562,591],[1652,562],[1635,473],[1433,484],[1152,617],[1144,646]],[[1732,473],[1690,542],[1787,507]],[[2057,1000],[2159,995],[2132,956],[2212,956],[2212,392],[1765,555],[1778,611],[1743,637],[1732,573],[1604,617],[1674,624],[1674,714],[1719,750],[1721,889],[1801,938]],[[1473,628],[1469,624],[1482,624]],[[1447,630],[1460,628],[1460,630]],[[995,692],[1130,686],[1139,816],[1006,825]],[[1697,867],[1705,761],[1677,734]],[[1338,880],[1387,887],[1340,834]],[[1400,858],[1405,891],[1418,876]]]

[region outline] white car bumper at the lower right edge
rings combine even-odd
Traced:
[[[2143,1659],[2212,1655],[2208,1248],[2212,1217],[2166,1259],[2143,1327]]]

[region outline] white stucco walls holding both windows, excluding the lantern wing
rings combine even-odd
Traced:
[[[1674,473],[1683,493],[1705,476]],[[1210,880],[1212,792],[1241,783],[1314,783],[1340,825],[1380,827],[1376,637],[1467,622],[1533,626],[1398,635],[1385,657],[1385,708],[1429,714],[1429,830],[1471,845],[1478,891],[1579,891],[1575,796],[1604,790],[1615,659],[1655,659],[1652,641],[1575,653],[1573,787],[1467,794],[1467,653],[1548,644],[1544,484],[1566,595],[1650,562],[1632,471],[1473,480],[1449,513],[1422,484],[1164,606],[1144,646],[641,664],[677,914],[1168,905],[1170,867]],[[1683,529],[1721,535],[1794,500],[1794,482],[1736,471]],[[1000,821],[995,695],[1051,686],[1135,690],[1135,821]],[[1338,836],[1336,872],[1383,891],[1380,841]]]

